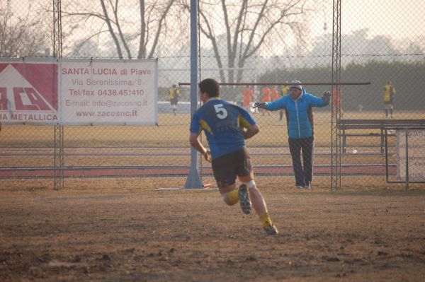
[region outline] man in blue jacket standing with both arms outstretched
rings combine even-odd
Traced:
[[[329,105],[331,93],[325,91],[322,98],[318,98],[305,92],[300,81],[291,83],[293,84],[290,86],[290,95],[285,95],[273,102],[256,102],[254,107],[270,111],[285,109],[289,150],[295,173],[295,187],[311,189],[314,148],[311,108]]]

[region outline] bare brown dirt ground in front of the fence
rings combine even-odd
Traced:
[[[0,183],[0,281],[424,281],[423,188],[257,180],[269,236],[216,189],[155,190],[183,182]]]

